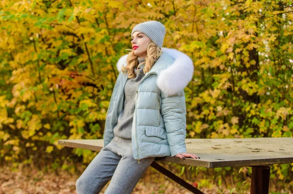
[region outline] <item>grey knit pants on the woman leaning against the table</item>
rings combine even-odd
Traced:
[[[76,181],[77,194],[98,194],[111,179],[105,194],[130,194],[154,157],[133,158],[131,139],[114,135]]]

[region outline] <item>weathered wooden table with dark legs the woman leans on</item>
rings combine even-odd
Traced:
[[[293,163],[293,137],[241,138],[241,139],[186,139],[187,152],[200,156],[200,159],[177,157],[157,157],[155,161],[178,164],[224,168],[251,166],[251,194],[268,194],[270,167],[272,164]],[[100,151],[103,139],[58,140],[59,145]],[[156,162],[151,166],[176,181],[194,194],[203,194],[172,172]]]

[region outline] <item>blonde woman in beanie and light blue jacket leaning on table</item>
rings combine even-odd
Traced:
[[[130,194],[155,157],[199,158],[186,152],[184,87],[193,63],[161,48],[165,26],[137,24],[132,48],[117,63],[119,75],[106,114],[104,147],[76,182],[77,194]]]

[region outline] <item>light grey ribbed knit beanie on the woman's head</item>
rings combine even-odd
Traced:
[[[144,33],[152,42],[156,44],[158,47],[162,47],[164,37],[166,34],[165,26],[161,22],[157,21],[148,21],[142,22],[134,26],[131,36],[133,32],[140,31]]]

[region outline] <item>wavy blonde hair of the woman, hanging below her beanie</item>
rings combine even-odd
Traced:
[[[134,68],[137,68],[143,64],[144,66],[144,73],[148,72],[151,67],[155,64],[155,62],[158,60],[158,58],[162,55],[162,48],[157,47],[156,44],[150,43],[147,46],[146,49],[146,60],[139,64],[138,58],[139,56],[134,54],[133,49],[126,49],[130,51],[130,53],[127,56],[126,64],[127,66],[122,65],[122,72],[126,74],[126,71],[128,71],[128,78],[135,78],[135,72]]]

